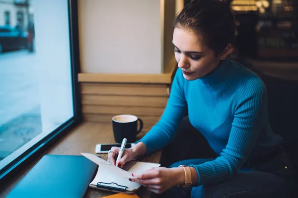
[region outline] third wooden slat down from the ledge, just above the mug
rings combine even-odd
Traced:
[[[161,116],[163,110],[164,107],[82,105],[82,113],[93,114],[133,114],[137,116]]]

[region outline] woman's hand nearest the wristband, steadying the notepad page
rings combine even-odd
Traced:
[[[174,186],[185,183],[183,168],[154,167],[142,173],[133,173],[133,177],[137,179],[129,180],[142,184],[156,194],[161,194]]]

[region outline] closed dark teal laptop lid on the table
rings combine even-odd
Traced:
[[[7,198],[82,198],[96,167],[84,156],[44,155]]]

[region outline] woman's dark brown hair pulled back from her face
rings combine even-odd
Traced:
[[[229,4],[228,0],[193,0],[175,17],[173,26],[192,30],[218,55],[235,40]]]

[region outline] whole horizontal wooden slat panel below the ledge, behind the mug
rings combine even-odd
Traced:
[[[111,123],[113,116],[133,114],[144,124],[155,124],[169,97],[170,85],[81,83],[83,120]]]

